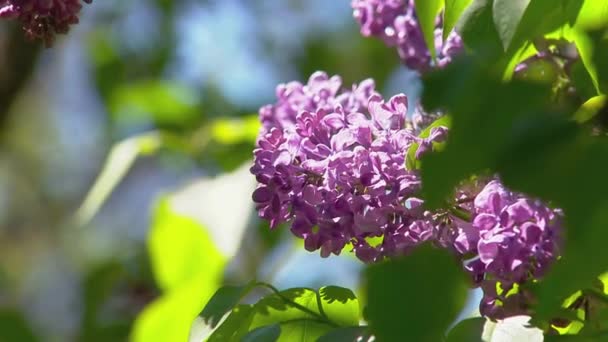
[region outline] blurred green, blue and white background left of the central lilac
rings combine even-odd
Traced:
[[[161,196],[233,257],[221,282],[357,287],[357,262],[257,219],[248,172],[278,83],[325,70],[417,96],[349,1],[94,1],[52,49],[0,25],[0,341],[128,339],[170,295],[146,246]]]

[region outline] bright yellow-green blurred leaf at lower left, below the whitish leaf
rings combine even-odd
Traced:
[[[222,280],[225,257],[204,227],[175,214],[166,199],[156,209],[148,248],[163,295],[137,318],[132,340],[186,341],[195,317]]]

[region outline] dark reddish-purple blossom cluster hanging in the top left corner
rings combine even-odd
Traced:
[[[78,23],[81,8],[80,0],[0,0],[0,18],[18,19],[28,38],[49,45],[55,34],[67,33]]]

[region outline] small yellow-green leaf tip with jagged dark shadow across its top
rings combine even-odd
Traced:
[[[319,289],[321,307],[332,322],[340,326],[359,324],[359,301],[350,289],[325,286]]]

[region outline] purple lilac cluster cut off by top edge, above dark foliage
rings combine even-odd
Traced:
[[[413,0],[352,0],[351,6],[353,16],[361,26],[361,34],[378,37],[388,46],[397,47],[401,60],[410,69],[423,72],[433,65],[442,67],[463,49],[462,40],[455,31],[443,41],[443,24],[438,16],[435,28],[437,61],[434,64],[418,24]]]

